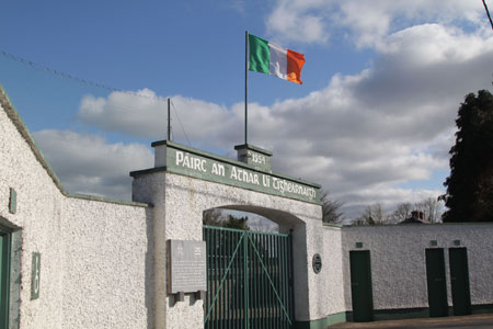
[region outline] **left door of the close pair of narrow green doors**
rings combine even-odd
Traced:
[[[426,283],[431,317],[448,316],[444,249],[426,249]]]

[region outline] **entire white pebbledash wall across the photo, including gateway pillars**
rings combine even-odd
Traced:
[[[370,250],[376,310],[426,308],[425,248],[447,249],[460,240],[468,248],[472,304],[493,304],[493,225],[326,226],[320,205],[159,168],[134,174],[133,203],[72,195],[1,88],[0,132],[0,225],[22,237],[13,251],[21,257],[12,269],[21,281],[13,284],[20,292],[12,291],[12,329],[203,328],[203,300],[186,295],[175,303],[167,294],[165,242],[202,240],[203,212],[214,207],[256,213],[284,232],[293,229],[300,328],[324,328],[351,313],[351,250]],[[10,189],[18,193],[15,214],[8,207]],[[41,253],[42,266],[34,300],[33,252]],[[319,274],[314,253],[322,258]],[[448,270],[447,283],[450,295]]]

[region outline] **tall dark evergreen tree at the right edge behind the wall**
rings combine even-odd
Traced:
[[[493,222],[493,95],[470,93],[456,121],[444,222]]]

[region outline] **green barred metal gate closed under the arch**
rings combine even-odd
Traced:
[[[290,235],[204,226],[206,329],[294,326]]]

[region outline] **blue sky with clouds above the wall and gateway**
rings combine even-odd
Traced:
[[[249,143],[347,218],[443,193],[460,102],[493,80],[481,0],[7,1],[2,13],[0,83],[66,189],[114,198],[152,167],[168,97],[175,141],[234,157],[245,30],[307,58],[301,86],[249,73]]]

